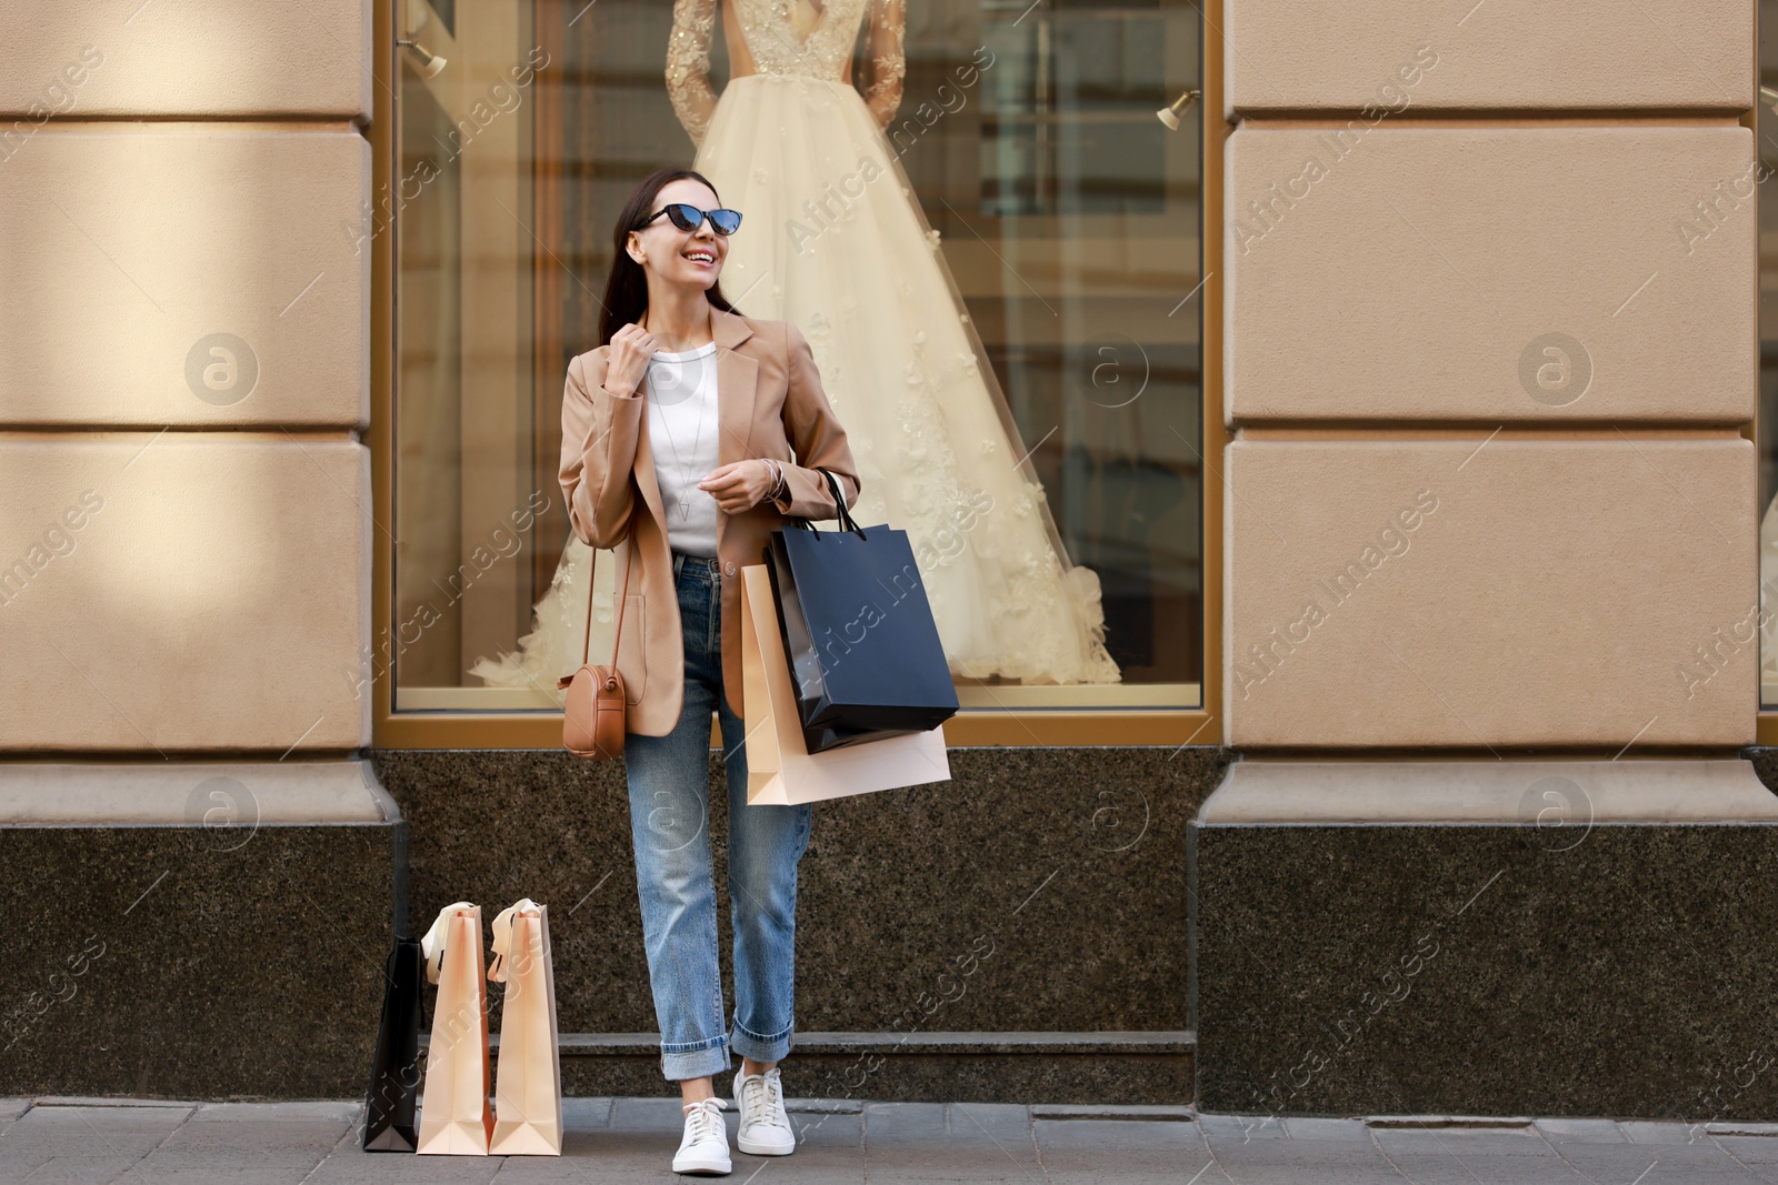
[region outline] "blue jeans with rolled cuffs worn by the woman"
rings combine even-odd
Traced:
[[[629,734],[629,837],[649,954],[661,1071],[702,1078],[729,1050],[759,1062],[789,1054],[797,956],[797,862],[813,808],[749,807],[741,718],[722,693],[722,565],[674,553],[685,631],[685,705],[663,737]],[[740,645],[740,640],[736,640]],[[729,775],[729,903],[734,922],[734,1029],[722,1020],[717,879],[709,851],[709,714]]]

